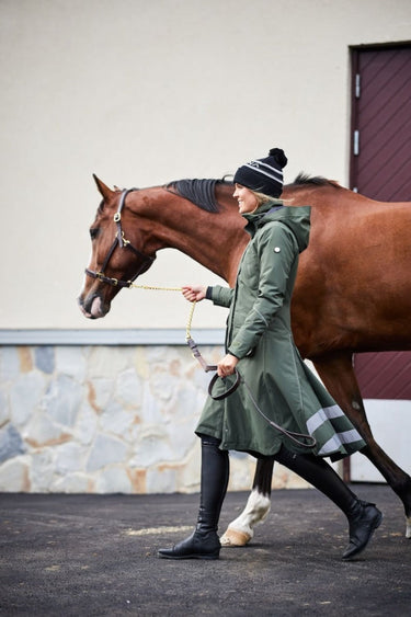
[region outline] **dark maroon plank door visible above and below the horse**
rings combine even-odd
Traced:
[[[352,75],[351,188],[411,202],[411,45],[353,49]],[[411,400],[411,352],[356,354],[354,366],[364,398]]]

